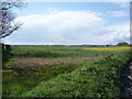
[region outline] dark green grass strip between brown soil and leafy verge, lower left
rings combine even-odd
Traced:
[[[88,61],[87,63],[90,62],[91,61]],[[72,64],[54,65],[48,67],[30,68],[19,73],[14,69],[2,70],[3,97],[15,97],[21,95],[23,91],[30,91],[41,81],[54,78],[59,74],[70,73],[81,65],[82,63],[78,62]]]

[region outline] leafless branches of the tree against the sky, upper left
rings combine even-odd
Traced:
[[[14,21],[15,16],[12,13],[13,8],[23,8],[24,3],[21,0],[2,0],[0,1],[0,38],[3,38],[22,24]]]

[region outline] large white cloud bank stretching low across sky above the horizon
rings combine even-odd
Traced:
[[[24,24],[4,40],[10,44],[108,44],[129,33],[125,25],[106,26],[92,11],[52,11],[18,20]]]

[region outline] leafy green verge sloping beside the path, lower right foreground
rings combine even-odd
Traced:
[[[119,97],[122,87],[120,75],[129,61],[130,53],[125,51],[82,64],[72,73],[42,81],[21,97]]]

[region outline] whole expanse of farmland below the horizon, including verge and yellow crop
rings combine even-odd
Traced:
[[[3,97],[117,97],[130,47],[12,46]]]

